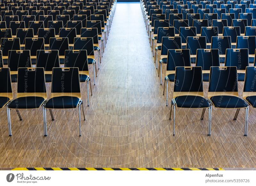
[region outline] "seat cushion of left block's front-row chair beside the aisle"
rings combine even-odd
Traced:
[[[76,108],[79,98],[72,96],[59,96],[48,100],[45,108]]]

